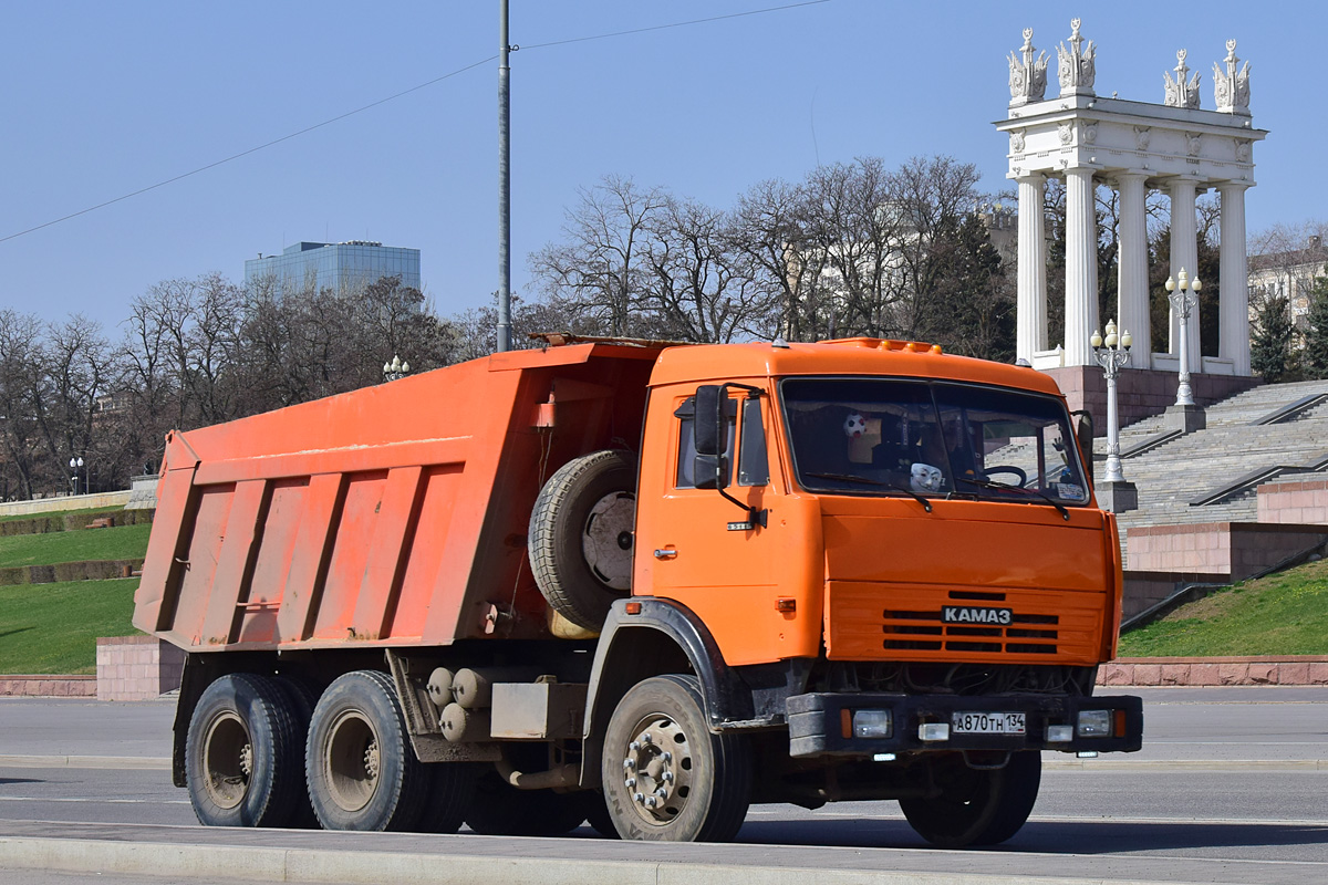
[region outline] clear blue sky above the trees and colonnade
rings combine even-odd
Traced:
[[[819,163],[951,154],[1004,188],[1005,54],[1097,42],[1097,92],[1162,101],[1190,50],[1251,62],[1248,224],[1328,215],[1321,3],[888,3],[780,12],[554,46],[790,0],[510,0],[513,281],[579,187],[635,178],[726,207]],[[495,54],[497,0],[17,3],[3,7],[0,236],[320,123]],[[1052,64],[1054,81],[1054,61]],[[82,312],[118,336],[159,280],[297,240],[421,249],[448,314],[497,288],[497,61],[147,194],[0,243],[0,306]],[[1048,96],[1056,94],[1056,84]]]

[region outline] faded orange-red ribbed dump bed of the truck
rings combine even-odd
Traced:
[[[134,625],[191,651],[537,637],[544,479],[635,450],[659,346],[495,354],[167,437]]]

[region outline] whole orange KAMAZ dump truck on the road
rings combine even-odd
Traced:
[[[219,825],[728,840],[895,799],[1012,836],[1094,697],[1116,523],[1032,369],[554,338],[166,446],[134,624]],[[1082,430],[1082,427],[1080,429]]]

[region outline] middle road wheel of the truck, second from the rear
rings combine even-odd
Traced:
[[[325,829],[409,831],[428,788],[392,678],[356,670],[313,707],[304,772]]]

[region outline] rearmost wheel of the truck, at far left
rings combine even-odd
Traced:
[[[189,720],[189,801],[207,827],[284,827],[300,801],[299,734],[290,701],[270,678],[224,675]]]

